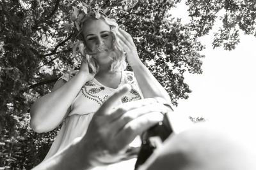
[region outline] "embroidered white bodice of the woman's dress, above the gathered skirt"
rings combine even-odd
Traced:
[[[72,73],[64,74],[60,77],[60,79],[68,81],[70,78],[76,75],[76,73],[77,71],[73,71]],[[127,92],[127,94],[125,94],[116,104],[141,99],[142,94],[134,74],[131,71],[122,71],[121,75],[121,81],[118,87],[128,83],[132,86],[132,89]],[[99,109],[102,103],[104,103],[104,101],[106,101],[106,99],[108,99],[108,97],[115,92],[115,90],[116,89],[102,85],[99,81],[93,78],[93,80],[86,82],[79,94],[77,94],[76,98],[71,104],[71,111],[68,116],[74,114],[85,115],[94,113]]]

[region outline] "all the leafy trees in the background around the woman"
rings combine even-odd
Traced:
[[[68,13],[78,2],[0,0],[0,168],[30,169],[44,158],[56,135],[56,131],[33,132],[29,127],[29,108],[36,98],[51,92],[61,74],[79,68],[79,63],[72,59],[72,36],[63,29],[63,23],[69,21]],[[207,1],[188,1],[193,19],[191,24],[182,25],[179,18],[168,14],[179,2],[97,1],[101,8],[109,7],[109,15],[131,33],[141,60],[169,92],[175,105],[191,92],[183,74],[202,73],[204,56],[199,52],[204,46],[196,38],[212,28],[214,12],[226,9],[213,0],[211,8]],[[228,36],[229,29],[234,29],[232,25],[238,24],[246,33],[255,34],[255,3],[244,2],[248,5],[244,3],[243,8],[227,8],[230,15],[223,26],[224,33],[216,34],[214,46],[225,46],[230,39],[237,39],[236,34]],[[239,14],[236,9],[243,10]],[[240,21],[231,22],[233,18]],[[236,45],[237,41],[232,42]]]

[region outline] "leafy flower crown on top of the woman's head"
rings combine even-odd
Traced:
[[[84,18],[86,18],[86,15],[89,13],[94,13],[96,19],[99,19],[101,15],[107,17],[106,13],[108,13],[109,8],[102,10],[99,8],[98,4],[95,4],[95,6],[92,7],[90,4],[88,5],[86,3],[79,2],[78,8],[73,6],[73,10],[74,11],[70,15],[71,24],[63,24],[63,27],[67,32],[71,32],[73,28],[80,32],[81,27],[83,26]]]

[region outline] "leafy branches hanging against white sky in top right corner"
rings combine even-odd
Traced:
[[[208,34],[220,14],[223,26],[214,34],[214,48],[223,45],[225,50],[234,50],[239,43],[239,30],[256,36],[255,0],[188,0],[186,4],[196,36]]]

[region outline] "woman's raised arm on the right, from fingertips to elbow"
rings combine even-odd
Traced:
[[[119,29],[117,35],[121,40],[120,43],[124,46],[124,50],[127,53],[127,60],[132,67],[143,96],[145,98],[157,96],[163,97],[168,103],[171,103],[170,96],[166,90],[138,57],[136,46],[134,45],[131,35],[122,29]]]

